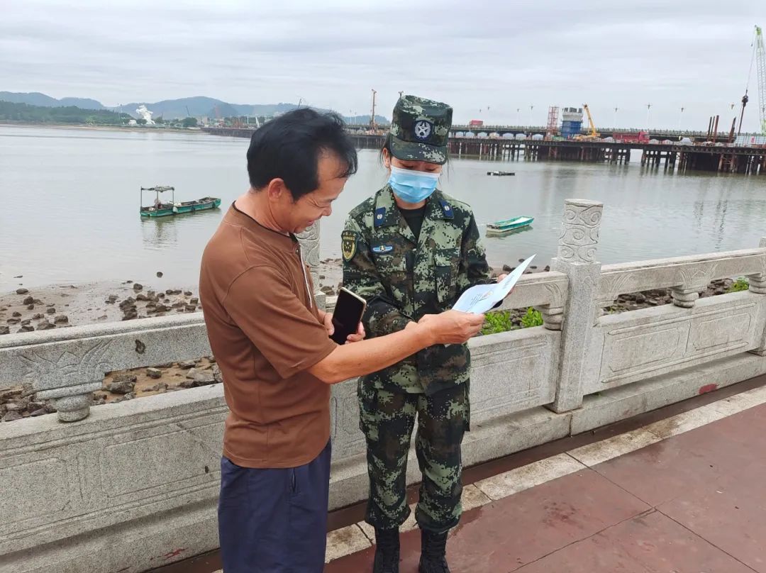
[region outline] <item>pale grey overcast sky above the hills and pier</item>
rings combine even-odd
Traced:
[[[719,113],[728,128],[754,25],[766,26],[763,0],[0,0],[0,8],[0,90],[107,106],[302,98],[362,114],[375,88],[385,116],[404,90],[452,104],[461,123],[542,124],[548,106],[588,103],[602,127],[646,126],[651,103],[651,126],[707,129]],[[755,130],[755,75],[750,95],[743,128]]]

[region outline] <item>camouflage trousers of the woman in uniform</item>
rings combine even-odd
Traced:
[[[463,470],[460,444],[470,429],[469,383],[436,394],[358,385],[359,426],[367,438],[370,496],[365,520],[381,529],[401,526],[407,505],[407,457],[417,414],[415,453],[423,480],[415,519],[421,529],[447,532],[457,526]]]

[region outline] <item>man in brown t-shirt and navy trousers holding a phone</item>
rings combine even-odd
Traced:
[[[329,491],[329,385],[434,344],[465,342],[483,316],[448,311],[345,345],[316,307],[295,234],[332,212],[356,171],[335,114],[295,110],[258,129],[250,189],[202,256],[200,295],[230,409],[218,527],[226,573],[322,571]],[[349,344],[354,342],[353,344]]]

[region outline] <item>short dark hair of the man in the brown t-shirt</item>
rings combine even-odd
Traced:
[[[287,112],[260,127],[247,149],[247,175],[254,189],[282,179],[297,201],[319,187],[317,167],[322,153],[334,153],[345,165],[339,177],[356,172],[356,149],[337,113],[308,107]]]

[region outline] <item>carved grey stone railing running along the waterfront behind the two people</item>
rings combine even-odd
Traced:
[[[601,212],[567,201],[552,271],[525,275],[506,299],[539,309],[544,326],[471,341],[466,465],[766,373],[766,241],[602,267]],[[318,229],[303,238],[316,267]],[[750,290],[698,300],[711,280],[738,276]],[[602,311],[663,287],[673,304]],[[0,573],[145,571],[217,546],[221,385],[90,408],[106,372],[208,354],[199,314],[0,337],[0,388],[21,384],[58,410],[0,424]],[[332,388],[331,415],[337,508],[367,496],[355,381]]]

